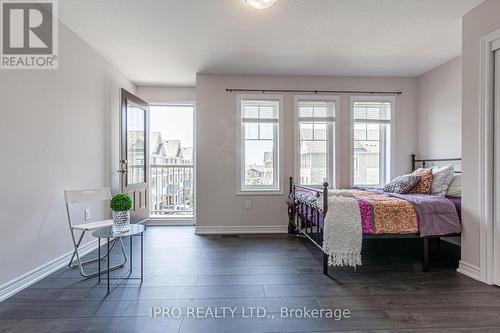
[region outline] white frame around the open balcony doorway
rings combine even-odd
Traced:
[[[169,217],[169,216],[151,216],[147,222],[148,225],[166,225],[166,226],[194,226],[196,225],[197,214],[197,118],[198,114],[196,112],[196,102],[192,100],[154,100],[149,103],[150,106],[192,106],[193,107],[193,197],[194,197],[194,209],[193,217]],[[151,184],[149,185],[149,190],[151,189]]]

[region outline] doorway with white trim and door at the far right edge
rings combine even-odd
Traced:
[[[481,38],[480,46],[480,265],[461,262],[459,271],[500,285],[500,29]]]

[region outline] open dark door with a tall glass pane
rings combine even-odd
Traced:
[[[120,121],[120,186],[134,204],[130,222],[149,218],[149,105],[122,89]]]

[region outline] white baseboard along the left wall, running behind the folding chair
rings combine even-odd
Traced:
[[[97,240],[93,240],[80,247],[80,255],[84,256],[93,250],[97,249]],[[6,300],[7,298],[14,296],[23,289],[28,288],[32,284],[40,281],[41,279],[49,276],[50,274],[58,271],[59,269],[67,266],[73,251],[70,251],[59,258],[56,258],[40,267],[29,271],[20,277],[9,281],[0,286],[0,302]]]

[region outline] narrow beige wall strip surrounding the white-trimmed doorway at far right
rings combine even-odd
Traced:
[[[463,17],[462,26],[462,260],[480,266],[480,46],[500,28],[500,1],[489,0]]]

